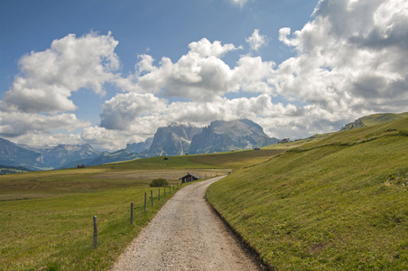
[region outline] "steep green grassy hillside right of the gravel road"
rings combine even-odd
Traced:
[[[408,118],[340,132],[210,186],[279,270],[408,269]]]

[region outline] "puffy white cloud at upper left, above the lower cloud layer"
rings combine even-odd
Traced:
[[[103,85],[116,79],[112,71],[119,68],[117,43],[110,33],[79,38],[69,34],[46,51],[24,55],[19,62],[22,74],[5,92],[4,102],[29,113],[75,110],[72,91],[88,88],[104,94]]]

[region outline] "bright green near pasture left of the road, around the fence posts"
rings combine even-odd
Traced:
[[[111,265],[125,245],[169,199],[154,190],[153,208],[144,209],[144,192],[129,185],[105,192],[81,192],[25,201],[1,201],[0,269],[101,270]],[[130,225],[134,202],[134,225]],[[97,216],[98,248],[93,249],[93,222]]]

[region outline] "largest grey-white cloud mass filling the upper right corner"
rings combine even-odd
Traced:
[[[397,7],[398,6],[398,7]],[[408,3],[325,0],[315,19],[280,40],[295,48],[268,82],[288,98],[349,118],[408,104]]]

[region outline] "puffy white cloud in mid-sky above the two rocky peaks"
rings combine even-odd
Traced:
[[[163,57],[158,66],[153,65],[151,56],[140,56],[136,64],[139,75],[136,86],[128,84],[128,89],[201,102],[214,101],[226,93],[240,90],[267,91],[265,81],[274,62],[243,56],[231,69],[222,56],[239,49],[233,44],[202,39],[191,42],[189,48],[190,51],[175,63]]]

